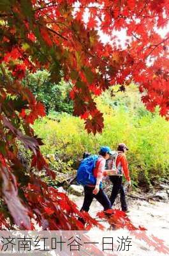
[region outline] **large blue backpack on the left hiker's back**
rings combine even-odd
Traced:
[[[99,156],[92,155],[82,160],[77,170],[78,184],[83,186],[89,184],[96,184],[96,178],[93,175],[93,170],[96,166],[96,161],[98,160],[98,158]]]

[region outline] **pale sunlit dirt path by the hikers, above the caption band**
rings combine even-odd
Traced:
[[[70,195],[70,198],[78,205],[82,206],[83,196]],[[151,200],[132,200],[128,198],[129,212],[128,216],[134,225],[142,225],[148,230],[152,228],[168,228],[169,229],[169,204],[167,202],[157,202]],[[120,209],[120,204],[117,202],[116,209]],[[96,217],[96,213],[101,211],[102,206],[94,199],[89,213]]]

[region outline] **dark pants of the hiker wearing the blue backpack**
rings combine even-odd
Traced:
[[[93,190],[94,190],[94,188],[92,188],[92,187],[89,187],[89,186],[84,187],[84,204],[80,211],[88,212],[93,198],[96,198],[96,200],[98,200],[98,202],[103,206],[104,211],[111,209],[110,200],[108,199],[108,197],[105,194],[105,192],[103,191],[103,189],[100,188],[97,195],[94,195],[92,193]]]

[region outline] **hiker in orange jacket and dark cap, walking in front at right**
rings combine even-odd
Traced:
[[[128,169],[128,161],[126,159],[126,150],[128,150],[128,147],[124,143],[120,143],[117,147],[118,156],[116,159],[116,167],[119,170],[118,174],[114,173],[114,175],[110,175],[110,180],[113,183],[112,193],[110,196],[110,202],[112,205],[114,205],[115,198],[117,197],[118,193],[121,194],[121,208],[122,211],[128,212],[128,206],[126,203],[126,196],[124,192],[124,187],[122,185],[122,175],[124,174],[124,177],[126,180],[128,180],[129,186],[131,186],[131,179],[129,177],[129,169]],[[104,175],[107,175],[107,173],[104,173]]]

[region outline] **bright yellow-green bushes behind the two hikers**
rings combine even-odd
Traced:
[[[147,111],[139,98],[133,86],[116,97],[109,93],[99,97],[97,104],[104,113],[105,128],[96,136],[84,131],[82,120],[66,113],[38,120],[34,129],[45,142],[43,154],[57,154],[76,163],[85,150],[97,153],[101,145],[116,149],[124,142],[129,147],[127,158],[135,184],[150,185],[167,178],[169,123],[159,116],[158,109],[153,114]]]

